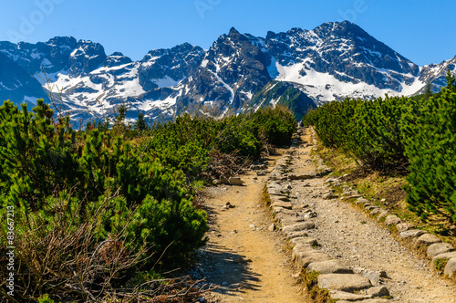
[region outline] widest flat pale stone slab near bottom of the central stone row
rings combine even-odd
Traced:
[[[354,274],[326,274],[318,276],[318,287],[353,292],[372,287],[366,277]]]

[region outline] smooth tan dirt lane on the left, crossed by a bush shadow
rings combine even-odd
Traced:
[[[271,159],[273,162],[274,159]],[[208,302],[310,302],[297,285],[284,239],[263,203],[264,176],[249,172],[244,186],[210,188],[205,199],[210,241],[199,252],[199,270],[219,288]],[[234,208],[224,209],[227,203]],[[209,298],[208,298],[209,297]]]

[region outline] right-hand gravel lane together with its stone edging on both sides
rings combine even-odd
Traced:
[[[307,141],[301,141],[305,135]],[[441,269],[449,277],[456,276],[453,247],[371,204],[340,179],[325,180],[323,177],[331,169],[319,155],[311,156],[312,149],[316,151],[315,131],[300,129],[290,149],[275,163],[266,186],[275,220],[293,246],[295,265],[307,273],[318,272],[317,286],[328,289],[329,297],[341,303],[456,302],[450,281],[436,280],[435,274],[432,276],[429,268],[423,269],[425,265],[416,256],[409,256],[412,253],[397,243],[387,228],[375,222],[395,226],[400,237],[412,239],[412,245],[429,246],[431,266],[446,262]],[[341,203],[330,185],[341,185],[344,192],[340,196],[358,199],[355,204],[361,205],[368,215]],[[390,253],[388,247],[381,246],[382,241]],[[417,261],[409,263],[410,259]],[[381,270],[382,266],[388,269]]]

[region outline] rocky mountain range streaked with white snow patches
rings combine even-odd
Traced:
[[[266,37],[231,28],[207,50],[183,43],[139,61],[107,56],[96,42],[54,37],[0,42],[0,99],[31,106],[46,99],[82,122],[112,116],[122,104],[131,120],[140,111],[170,120],[185,111],[221,117],[268,104],[286,105],[300,119],[346,97],[411,96],[427,82],[438,91],[448,68],[456,69],[456,57],[420,67],[348,21]]]

